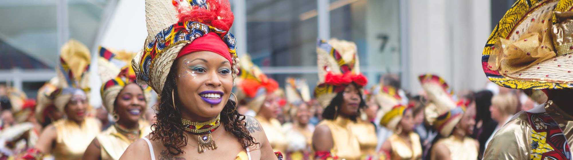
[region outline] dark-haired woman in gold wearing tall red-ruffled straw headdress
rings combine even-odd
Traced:
[[[348,41],[319,40],[317,44],[319,85],[315,97],[325,107],[324,120],[312,135],[315,159],[367,159],[363,155],[359,136],[352,127],[366,106],[362,87],[367,83],[360,73],[356,45]]]

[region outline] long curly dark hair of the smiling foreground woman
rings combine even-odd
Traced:
[[[176,68],[177,65],[175,61],[167,75],[167,81],[159,98],[159,104],[154,106],[155,109],[158,110],[158,113],[155,115],[157,122],[151,125],[151,140],[159,140],[162,142],[163,146],[166,147],[167,151],[172,155],[185,153],[181,147],[187,145],[187,135],[183,133],[185,129],[183,129],[184,126],[181,123],[181,113],[179,110],[174,109],[171,99],[171,91],[174,90],[174,93],[177,93],[177,87],[175,86]],[[176,106],[182,106],[178,96],[175,96],[174,99]],[[223,107],[221,111],[221,123],[223,127],[235,135],[245,149],[246,147],[260,144],[255,142],[255,139],[249,134],[249,131],[246,129],[246,123],[244,122],[246,117],[239,114],[236,107],[236,102],[231,99],[229,99],[225,107]]]

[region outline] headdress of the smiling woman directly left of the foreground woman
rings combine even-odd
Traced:
[[[113,113],[113,103],[117,99],[117,94],[129,83],[135,83],[135,74],[132,72],[131,63],[129,63],[135,53],[112,52],[104,47],[100,47],[99,53],[97,71],[101,82],[103,82],[100,88],[101,101],[104,103],[105,109],[109,113]],[[143,88],[146,101],[149,101],[151,97],[150,91],[150,87]]]

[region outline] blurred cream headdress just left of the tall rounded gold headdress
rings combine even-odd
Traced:
[[[48,114],[47,112],[49,110],[46,110],[46,108],[54,105],[54,99],[51,95],[57,90],[57,84],[58,78],[54,77],[38,89],[38,95],[36,97],[36,119],[41,123],[44,123],[45,117]]]

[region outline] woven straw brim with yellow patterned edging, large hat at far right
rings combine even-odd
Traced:
[[[500,39],[518,41],[527,35],[533,23],[551,23],[554,11],[570,10],[571,1],[517,1],[494,28],[482,53],[482,67],[486,77],[497,85],[512,89],[566,89],[573,88],[573,57],[557,55],[515,72],[490,70],[490,55],[501,49]],[[551,13],[551,14],[547,14]],[[550,32],[548,29],[547,32]],[[526,40],[527,41],[527,40]],[[550,51],[555,48],[545,47]]]

